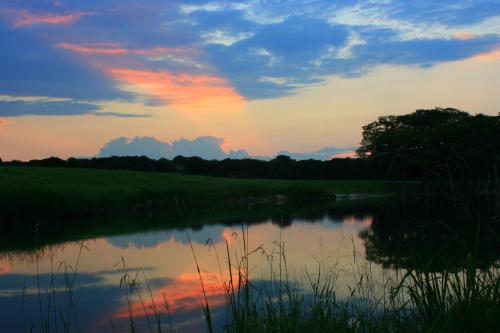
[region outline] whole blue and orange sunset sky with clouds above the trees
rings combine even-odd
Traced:
[[[0,45],[3,160],[347,150],[381,115],[500,111],[500,0],[2,0]]]

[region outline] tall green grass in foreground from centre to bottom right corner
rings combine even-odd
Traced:
[[[230,319],[222,331],[498,332],[500,328],[500,272],[498,267],[479,270],[475,254],[462,270],[427,272],[422,265],[378,281],[382,286],[377,286],[369,267],[354,262],[354,284],[340,286],[350,290],[350,297],[341,299],[336,272],[328,267],[306,269],[307,287],[297,287],[289,276],[284,243],[277,243],[278,258],[274,267],[270,262],[269,278],[264,284],[255,283],[249,257],[256,250],[246,247],[244,230],[241,235],[244,254],[239,259],[230,255],[226,244],[231,278],[223,281],[223,289]],[[200,283],[204,289],[201,274]],[[206,297],[202,306],[208,332],[221,330],[212,323]]]

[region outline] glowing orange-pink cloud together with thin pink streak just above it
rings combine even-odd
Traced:
[[[61,42],[56,46],[85,56],[173,56],[186,59],[199,52],[196,49],[186,47],[126,48],[119,43]],[[119,59],[116,58],[116,60]],[[127,88],[150,95],[176,109],[216,108],[217,110],[227,110],[242,106],[244,102],[244,98],[225,79],[216,75],[110,68],[109,63],[106,65],[99,63],[99,61],[94,62],[94,64],[116,80],[121,81]]]

